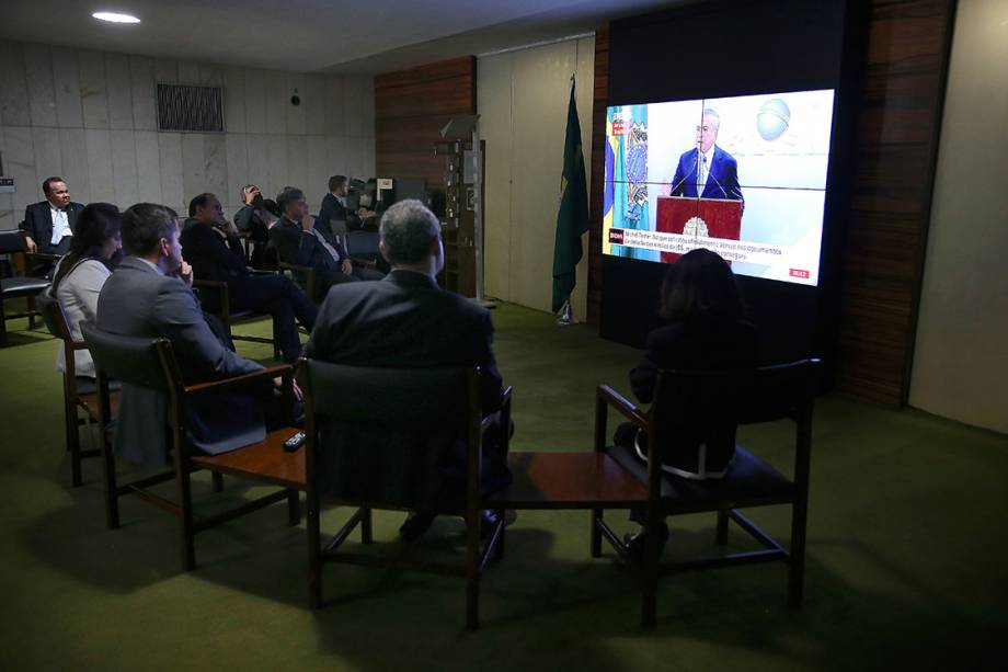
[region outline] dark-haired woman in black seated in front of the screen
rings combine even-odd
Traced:
[[[684,254],[668,269],[662,286],[660,315],[668,323],[648,334],[640,364],[630,372],[630,387],[642,403],[654,398],[660,369],[731,371],[756,365],[759,334],[745,319],[742,295],[731,266],[707,249]],[[662,446],[662,469],[692,480],[723,478],[735,455],[734,428],[703,438],[684,434]],[[633,425],[617,430],[616,442],[648,462],[648,441]],[[634,512],[633,520],[639,520]],[[667,527],[662,543],[668,536]],[[630,538],[631,551],[643,548],[643,535]]]

